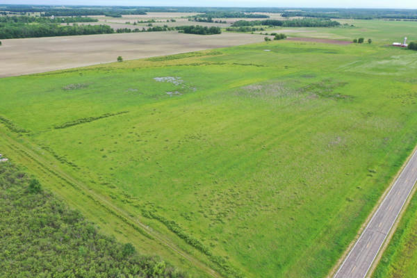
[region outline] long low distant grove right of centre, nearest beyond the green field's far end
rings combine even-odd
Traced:
[[[231,26],[283,26],[283,27],[336,27],[340,26],[339,22],[335,22],[329,19],[291,19],[291,20],[277,20],[277,19],[266,19],[266,20],[238,20]]]

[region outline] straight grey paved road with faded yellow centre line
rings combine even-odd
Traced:
[[[417,151],[402,170],[334,278],[363,278],[417,181]]]

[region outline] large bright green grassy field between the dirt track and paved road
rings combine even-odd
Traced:
[[[416,145],[417,54],[289,41],[206,54],[1,79],[0,115],[225,275],[324,277]]]

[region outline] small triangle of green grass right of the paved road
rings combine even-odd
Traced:
[[[397,231],[374,272],[375,278],[413,278],[417,271],[417,197],[404,213]]]

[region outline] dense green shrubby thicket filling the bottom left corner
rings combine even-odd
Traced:
[[[41,183],[0,163],[1,277],[186,277],[104,236]]]

